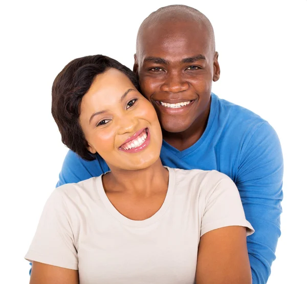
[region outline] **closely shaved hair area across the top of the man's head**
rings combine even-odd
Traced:
[[[194,25],[202,26],[206,31],[208,44],[211,45],[212,53],[215,52],[214,31],[209,19],[192,7],[185,5],[170,5],[162,7],[155,12],[152,12],[142,23],[137,35],[137,56],[142,48],[142,40],[144,35],[150,34],[156,29],[165,29],[167,26],[176,26],[179,22],[191,22]],[[199,35],[200,36],[200,35]]]

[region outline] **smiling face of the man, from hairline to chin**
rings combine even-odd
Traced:
[[[168,132],[204,124],[210,109],[212,80],[220,67],[209,33],[198,22],[164,22],[146,29],[134,71],[143,95],[155,107]]]

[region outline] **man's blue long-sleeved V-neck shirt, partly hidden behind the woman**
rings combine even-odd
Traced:
[[[212,93],[208,124],[201,138],[183,151],[163,141],[161,160],[172,168],[217,170],[235,182],[246,219],[255,229],[247,237],[253,284],[266,283],[280,236],[283,175],[279,139],[270,124]],[[57,186],[108,170],[100,156],[85,161],[69,151]]]

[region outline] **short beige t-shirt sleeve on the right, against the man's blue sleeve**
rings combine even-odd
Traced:
[[[214,186],[207,184],[201,236],[206,232],[227,226],[243,226],[247,228],[247,235],[252,234],[254,229],[245,218],[243,205],[234,182],[222,173],[215,172],[215,174],[220,175],[221,179]]]

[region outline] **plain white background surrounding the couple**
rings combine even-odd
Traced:
[[[282,235],[268,283],[304,282],[307,1],[6,2],[0,8],[0,283],[28,283],[23,257],[67,153],[50,112],[55,76],[70,60],[93,54],[131,68],[142,20],[170,4],[192,6],[212,22],[221,65],[213,91],[261,115],[279,135]]]

